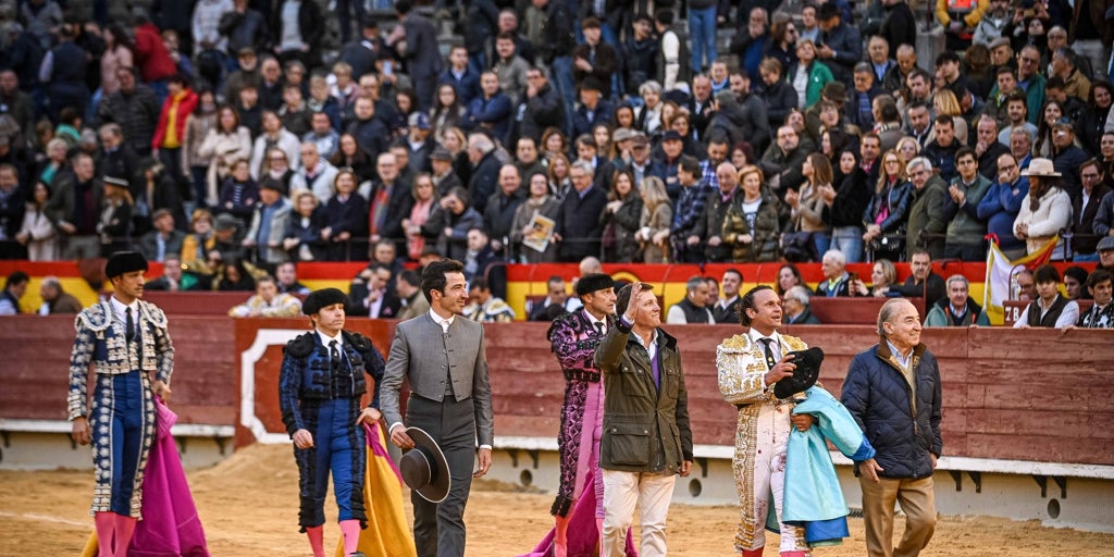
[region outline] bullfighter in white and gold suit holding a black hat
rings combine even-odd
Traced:
[[[795,336],[780,334],[781,300],[768,285],[751,289],[740,304],[739,321],[745,334],[724,340],[715,350],[720,392],[739,408],[735,456],[732,468],[739,490],[739,531],[735,549],[743,557],[761,556],[765,547],[769,501],[773,500],[781,527],[781,555],[804,557],[809,547],[804,530],[783,521],[785,449],[792,428],[808,429],[811,416],[793,414],[792,397],[804,388],[788,389],[798,365],[792,351],[808,349]]]

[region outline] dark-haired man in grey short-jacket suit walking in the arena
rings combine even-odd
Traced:
[[[472,478],[491,468],[495,420],[483,326],[457,319],[468,303],[463,270],[453,260],[426,266],[421,290],[430,312],[395,328],[381,390],[381,409],[390,424],[391,442],[402,449],[413,448],[405,431],[407,427],[418,427],[432,436],[449,461],[452,482],[448,498],[433,504],[417,492],[410,496],[419,557],[465,555],[468,491]],[[410,380],[404,419],[399,410],[403,379]],[[473,473],[477,441],[479,469]]]

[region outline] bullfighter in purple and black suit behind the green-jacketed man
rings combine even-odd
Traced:
[[[546,333],[565,374],[565,402],[557,436],[560,487],[549,511],[557,519],[556,557],[580,555],[578,546],[583,544],[587,544],[586,551],[590,553],[603,531],[604,478],[599,469],[599,437],[604,427],[604,384],[592,356],[604,334],[614,326],[614,286],[615,281],[604,273],[582,276],[576,283],[576,295],[584,306],[554,320]],[[573,511],[579,508],[577,501],[589,486],[596,504],[584,511],[595,512],[597,529],[593,536],[584,535],[569,541],[567,534]]]

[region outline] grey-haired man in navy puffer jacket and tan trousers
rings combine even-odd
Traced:
[[[877,451],[873,458],[854,460],[869,557],[915,557],[936,529],[932,472],[944,452],[941,382],[936,355],[920,333],[912,302],[887,301],[878,312],[878,344],[851,360],[843,381],[840,402]],[[891,548],[895,499],[905,511],[906,527],[900,545]]]

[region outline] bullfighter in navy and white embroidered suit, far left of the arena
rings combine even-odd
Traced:
[[[79,444],[92,442],[92,514],[100,557],[127,555],[139,519],[144,471],[155,438],[155,401],[170,398],[174,345],[166,315],[143,296],[147,260],[136,252],[109,257],[114,293],[75,322],[70,354],[69,420]],[[96,370],[92,411],[89,367]],[[156,517],[148,517],[156,518]]]

